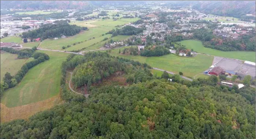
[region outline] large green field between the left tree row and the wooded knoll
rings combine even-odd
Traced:
[[[37,52],[46,53],[50,59],[31,68],[17,86],[3,93],[1,103],[6,107],[39,102],[60,93],[60,66],[69,54],[43,50]]]

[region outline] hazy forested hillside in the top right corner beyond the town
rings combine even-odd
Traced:
[[[207,14],[241,18],[246,14],[255,14],[255,1],[200,1],[192,4]]]

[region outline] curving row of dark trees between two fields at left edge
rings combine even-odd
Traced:
[[[12,76],[9,72],[5,73],[5,77],[3,77],[3,81],[1,81],[0,85],[0,95],[2,95],[3,91],[5,91],[6,89],[16,86],[22,80],[22,78],[25,76],[29,69],[38,65],[41,62],[48,60],[49,56],[45,53],[36,52],[34,53],[33,58],[35,60],[25,63],[15,75]]]

